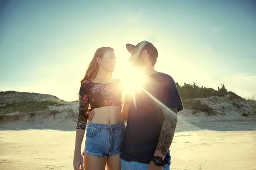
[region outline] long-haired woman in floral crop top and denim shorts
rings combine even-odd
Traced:
[[[122,91],[119,80],[112,79],[116,65],[113,48],[97,49],[79,91],[79,117],[76,126],[74,170],[120,170],[120,154],[125,123],[122,119]],[[89,108],[96,114],[87,125]],[[86,128],[87,127],[87,128]],[[83,156],[81,143],[86,130]]]

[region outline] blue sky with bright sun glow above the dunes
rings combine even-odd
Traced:
[[[115,49],[118,78],[142,40],[176,82],[256,94],[252,0],[0,0],[0,90],[73,101],[97,48]]]

